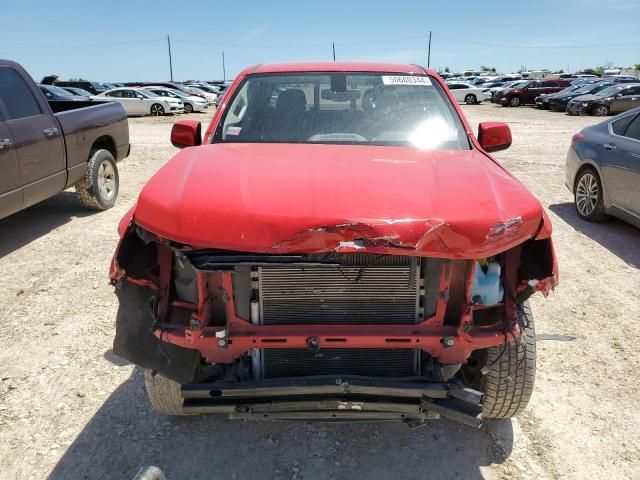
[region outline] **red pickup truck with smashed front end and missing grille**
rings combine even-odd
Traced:
[[[259,65],[143,188],[111,265],[114,351],[157,409],[448,417],[531,395],[527,299],[557,284],[540,202],[415,65]]]

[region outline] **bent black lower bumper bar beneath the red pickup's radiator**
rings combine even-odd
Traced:
[[[228,414],[231,419],[380,421],[420,424],[447,418],[481,425],[482,394],[455,383],[318,376],[189,384],[186,414]]]

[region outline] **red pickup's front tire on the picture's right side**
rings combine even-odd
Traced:
[[[484,393],[482,415],[487,418],[514,417],[529,403],[536,376],[536,332],[528,302],[519,307],[522,335],[506,345],[486,349],[489,368],[480,382]]]

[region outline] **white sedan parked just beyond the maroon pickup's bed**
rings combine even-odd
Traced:
[[[107,90],[91,97],[94,100],[111,100],[119,102],[127,115],[166,115],[168,113],[184,112],[182,100],[160,97],[142,88],[122,87]]]

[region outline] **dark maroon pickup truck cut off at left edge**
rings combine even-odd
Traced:
[[[72,186],[83,205],[111,208],[129,150],[119,103],[47,102],[20,65],[0,60],[0,218]]]

